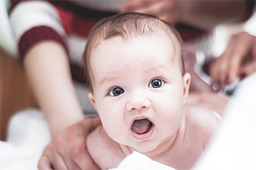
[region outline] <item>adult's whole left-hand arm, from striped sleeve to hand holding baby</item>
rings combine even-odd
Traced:
[[[80,165],[95,168],[85,149],[92,120],[84,120],[77,100],[66,52],[66,31],[57,10],[47,1],[15,2],[10,12],[13,32],[53,138],[38,168],[51,169],[51,165],[55,169],[79,169]]]

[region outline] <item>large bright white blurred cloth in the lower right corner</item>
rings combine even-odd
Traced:
[[[193,170],[256,169],[256,73],[241,82],[222,127]]]

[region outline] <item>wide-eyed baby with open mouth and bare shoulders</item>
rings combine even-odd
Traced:
[[[115,168],[133,151],[176,169],[191,169],[221,122],[212,110],[184,106],[190,74],[183,42],[154,16],[123,13],[94,27],[84,63],[89,98],[102,126],[87,138],[101,169]]]

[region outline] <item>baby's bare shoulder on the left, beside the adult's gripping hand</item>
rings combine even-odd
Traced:
[[[87,149],[100,169],[116,168],[125,157],[119,144],[107,135],[103,126],[88,135]]]

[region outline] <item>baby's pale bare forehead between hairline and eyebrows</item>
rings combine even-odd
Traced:
[[[168,64],[168,66],[175,65],[175,70],[180,70],[180,61],[176,59],[181,57],[180,53],[177,54],[176,49],[177,46],[179,46],[177,43],[179,43],[177,39],[170,38],[165,34],[136,36],[129,39],[123,39],[121,36],[102,39],[98,46],[94,47],[94,52],[91,53],[91,81],[93,84],[98,84],[98,81],[100,81],[102,77],[108,77],[110,75],[118,77],[123,75],[124,72],[129,72],[126,71],[126,69],[137,70],[138,73],[140,73],[137,69],[140,67],[143,67],[144,70],[151,73],[154,72],[153,69],[159,70],[158,68],[165,64]],[[123,57],[120,55],[123,55]],[[157,62],[155,59],[157,59]],[[119,61],[118,64],[115,63],[116,60]],[[165,69],[162,71],[164,70]]]

